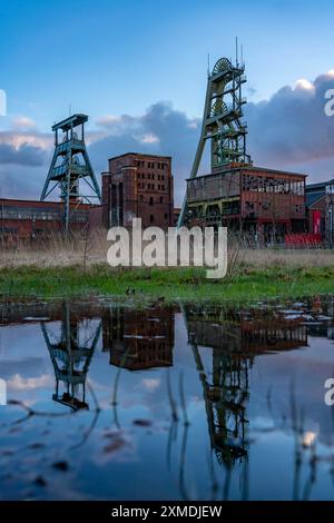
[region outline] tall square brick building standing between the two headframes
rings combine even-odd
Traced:
[[[109,159],[102,172],[106,227],[130,226],[139,217],[143,227],[174,225],[174,187],[169,156],[127,152]]]

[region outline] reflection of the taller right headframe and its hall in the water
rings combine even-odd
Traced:
[[[255,355],[304,346],[306,326],[269,309],[243,313],[186,306],[184,314],[203,384],[212,447],[218,461],[230,467],[247,457],[248,372]],[[212,374],[206,374],[199,346],[213,348]]]

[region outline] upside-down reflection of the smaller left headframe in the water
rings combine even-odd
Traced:
[[[89,408],[86,403],[86,378],[100,335],[101,322],[81,319],[71,314],[69,304],[65,303],[60,335],[55,336],[46,323],[41,323],[41,328],[56,376],[52,399],[75,411]],[[63,384],[62,393],[59,392],[60,384]]]

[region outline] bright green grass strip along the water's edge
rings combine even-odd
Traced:
[[[2,302],[21,298],[114,296],[134,300],[254,300],[334,293],[334,265],[258,266],[240,263],[222,280],[198,268],[112,269],[107,264],[0,268]]]

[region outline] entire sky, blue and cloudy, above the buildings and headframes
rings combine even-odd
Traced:
[[[1,196],[40,196],[50,128],[71,110],[89,116],[98,179],[129,148],[168,154],[179,203],[208,63],[234,57],[236,36],[254,162],[332,177],[334,118],[323,97],[334,88],[333,16],[327,0],[1,0]]]

